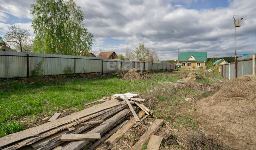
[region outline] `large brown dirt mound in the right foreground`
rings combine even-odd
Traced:
[[[256,149],[256,75],[232,78],[195,104],[200,126],[238,149]]]

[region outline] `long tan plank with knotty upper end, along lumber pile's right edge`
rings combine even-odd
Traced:
[[[142,118],[143,115],[145,114],[144,111],[140,111],[137,116],[139,118]],[[119,139],[121,139],[121,137],[132,128],[132,126],[134,126],[136,123],[136,119],[133,117],[132,119],[130,119],[127,124],[125,124],[121,129],[119,129],[118,131],[116,131],[110,138],[108,138],[108,140],[106,140],[99,148],[97,148],[97,150],[106,150],[106,149],[110,149],[112,147],[111,144],[115,144]]]

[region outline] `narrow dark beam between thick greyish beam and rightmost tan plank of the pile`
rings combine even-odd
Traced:
[[[109,138],[112,134],[114,134],[117,130],[119,130],[120,128],[122,128],[126,123],[128,122],[128,120],[125,120],[122,124],[120,124],[119,126],[115,127],[113,130],[111,130],[108,134],[104,135],[104,137],[101,137],[100,140],[96,141],[95,143],[93,143],[90,147],[87,148],[87,150],[93,150],[95,148],[97,148],[98,146],[100,146],[107,138]]]

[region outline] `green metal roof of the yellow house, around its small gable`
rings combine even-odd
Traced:
[[[187,60],[192,55],[196,60]],[[207,52],[187,52],[179,53],[179,61],[206,61]]]

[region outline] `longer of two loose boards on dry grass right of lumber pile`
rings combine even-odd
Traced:
[[[154,135],[163,123],[163,119],[155,119],[153,124],[150,126],[150,129],[141,136],[141,138],[133,145],[132,149],[142,149],[142,145],[145,144],[145,141],[148,140],[151,135]]]

